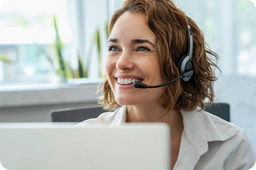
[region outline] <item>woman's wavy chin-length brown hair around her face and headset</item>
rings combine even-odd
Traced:
[[[187,82],[180,80],[168,84],[168,104],[163,105],[168,113],[170,110],[194,110],[197,105],[205,109],[205,99],[214,101],[213,82],[217,80],[215,68],[220,70],[214,60],[218,56],[207,48],[204,34],[196,23],[177,8],[171,0],[125,0],[121,8],[113,14],[109,24],[110,34],[117,19],[126,11],[139,12],[146,16],[150,29],[157,38],[157,56],[161,76],[170,81],[180,76],[178,63],[181,56],[187,53],[188,24],[193,32],[193,68],[194,75]],[[115,101],[114,94],[105,80],[103,94],[99,103],[105,110],[115,110],[120,105]]]

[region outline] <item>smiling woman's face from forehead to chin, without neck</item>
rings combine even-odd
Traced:
[[[121,105],[162,103],[165,87],[136,89],[135,81],[153,86],[163,83],[157,56],[156,36],[145,16],[125,12],[115,23],[108,39],[105,71]]]

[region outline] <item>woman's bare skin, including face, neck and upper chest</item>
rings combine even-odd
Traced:
[[[127,105],[127,122],[165,122],[171,130],[171,168],[177,161],[182,115],[170,111],[164,117],[162,104],[167,101],[166,87],[136,89],[119,84],[118,78],[137,78],[149,86],[164,83],[156,53],[156,36],[150,30],[145,16],[124,12],[115,23],[108,39],[105,70],[117,103]]]

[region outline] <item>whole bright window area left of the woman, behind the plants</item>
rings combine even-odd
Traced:
[[[67,78],[81,77],[78,58],[87,77],[99,77],[107,52],[106,25],[121,3],[121,0],[1,1],[1,84],[60,81],[53,16],[63,41],[61,54]],[[97,30],[102,47],[100,61],[94,40]]]

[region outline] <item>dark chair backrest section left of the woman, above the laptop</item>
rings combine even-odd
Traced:
[[[87,107],[51,110],[52,122],[81,122],[89,118],[96,118],[101,113],[107,112],[100,105]]]

